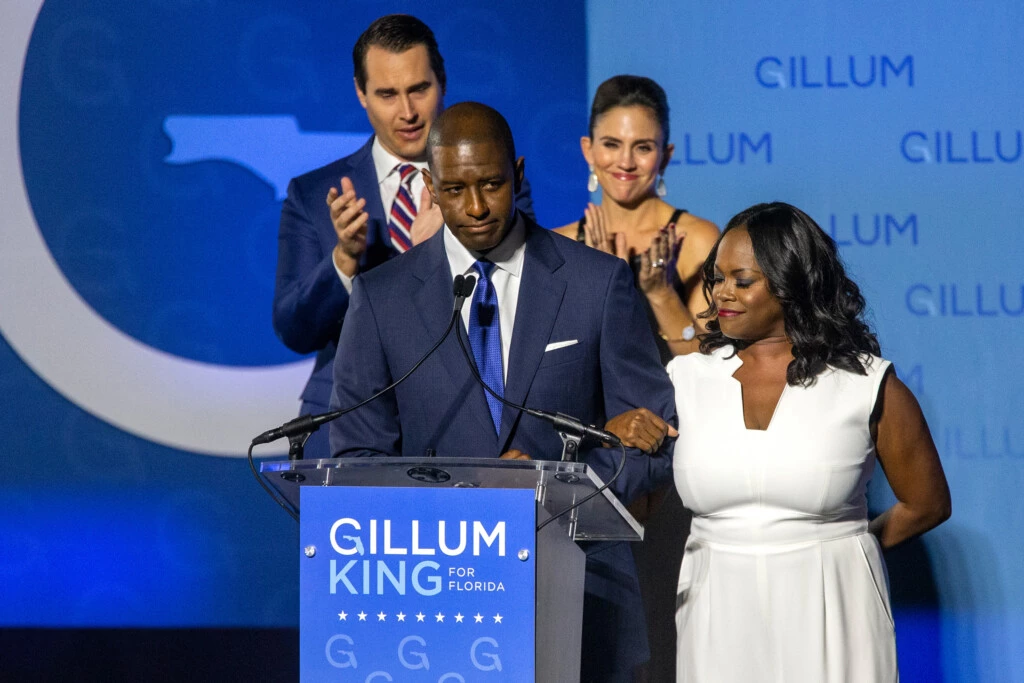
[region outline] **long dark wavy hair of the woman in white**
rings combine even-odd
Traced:
[[[746,228],[754,257],[768,282],[768,291],[782,306],[785,334],[793,342],[794,360],[786,371],[791,385],[810,386],[826,366],[864,375],[864,354],[879,355],[879,341],[864,322],[864,297],[840,260],[836,242],[795,206],[773,202],[740,211],[722,230],[705,260],[703,292],[710,303],[700,313],[708,332],[700,351],[748,342],[729,339],[718,324],[712,297],[718,246],[729,230]]]

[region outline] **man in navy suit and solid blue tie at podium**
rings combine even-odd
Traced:
[[[629,503],[671,477],[675,420],[668,376],[647,330],[633,275],[622,259],[539,227],[517,211],[523,177],[505,119],[463,102],[434,122],[427,187],[445,227],[401,259],[354,282],[334,369],[332,408],[353,405],[403,375],[440,338],[452,316],[453,279],[479,278],[464,307],[463,335],[480,375],[512,402],[604,425],[641,405],[664,427],[650,457],[630,449],[616,496]],[[608,429],[624,435],[612,427]],[[335,456],[555,459],[551,425],[489,400],[457,340],[449,338],[393,392],[331,424]],[[620,452],[582,459],[605,480]],[[585,681],[631,681],[647,654],[632,555],[625,544],[588,549],[582,672]]]

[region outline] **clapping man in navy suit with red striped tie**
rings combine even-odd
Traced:
[[[427,239],[442,220],[422,173],[445,87],[433,33],[408,14],[383,16],[356,41],[352,62],[374,135],[355,154],[294,178],[281,213],[273,328],[292,350],[317,352],[301,415],[327,411],[352,278]],[[528,190],[517,203],[531,215]],[[325,430],[305,455],[329,456]]]

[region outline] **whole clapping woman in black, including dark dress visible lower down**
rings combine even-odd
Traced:
[[[588,188],[600,188],[601,201],[588,204],[579,222],[556,231],[630,262],[663,362],[697,351],[696,336],[705,331],[697,313],[708,308],[700,268],[718,228],[664,199],[668,188],[663,176],[673,153],[665,90],[649,78],[608,79],[594,95],[589,135],[580,144],[591,170]],[[633,554],[651,659],[637,679],[671,681],[676,666],[674,577],[690,517],[672,486],[634,502],[630,511],[646,526],[645,541],[633,545]]]

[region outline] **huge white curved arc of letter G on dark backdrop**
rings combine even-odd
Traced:
[[[0,74],[25,72],[42,5],[5,3]],[[294,417],[294,396],[312,360],[256,368],[200,362],[147,346],[93,310],[50,253],[29,203],[20,94],[20,79],[0,82],[0,334],[36,375],[104,422],[174,449],[244,457],[254,435]]]

